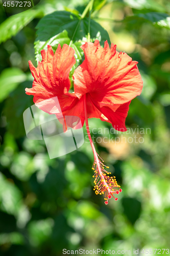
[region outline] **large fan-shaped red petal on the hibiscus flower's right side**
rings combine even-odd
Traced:
[[[118,53],[116,46],[105,42],[104,48],[95,40],[82,46],[85,60],[74,73],[76,95],[90,93],[102,106],[114,106],[126,103],[141,93],[142,80],[137,62],[126,53]],[[117,104],[117,105],[115,105]]]

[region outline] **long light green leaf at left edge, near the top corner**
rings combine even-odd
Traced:
[[[10,16],[0,25],[0,44],[16,35],[37,16],[42,15],[40,10],[27,10],[23,13]]]

